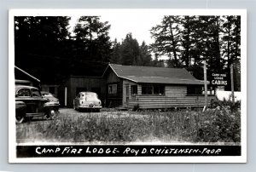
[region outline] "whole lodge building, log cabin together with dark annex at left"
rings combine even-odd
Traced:
[[[44,89],[44,88],[43,88]],[[101,77],[70,76],[58,86],[61,106],[73,107],[80,91],[96,92],[105,107],[202,107],[204,82],[186,69],[109,64]],[[208,105],[215,99],[208,91]]]

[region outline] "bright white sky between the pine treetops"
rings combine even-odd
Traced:
[[[113,41],[117,38],[118,42],[121,42],[125,38],[126,34],[131,32],[132,37],[136,38],[139,44],[154,43],[154,39],[151,38],[149,30],[158,24],[162,20],[163,15],[155,14],[104,14],[100,20],[102,22],[108,21],[111,25],[109,30],[109,36]],[[73,30],[73,26],[79,19],[79,15],[73,15],[70,20],[70,32]]]

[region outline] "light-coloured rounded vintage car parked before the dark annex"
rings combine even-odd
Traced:
[[[102,101],[98,99],[98,95],[94,92],[79,92],[79,95],[73,100],[73,108],[78,111],[88,109],[100,112]]]

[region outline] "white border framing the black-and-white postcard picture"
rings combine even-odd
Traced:
[[[241,156],[16,158],[14,16],[104,15],[108,13],[168,15],[241,15]],[[9,10],[9,163],[246,163],[247,162],[247,10],[246,9],[10,9]]]

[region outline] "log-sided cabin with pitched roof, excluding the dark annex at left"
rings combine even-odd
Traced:
[[[109,64],[107,106],[142,109],[204,106],[204,82],[183,68]],[[214,95],[208,92],[209,103]]]

